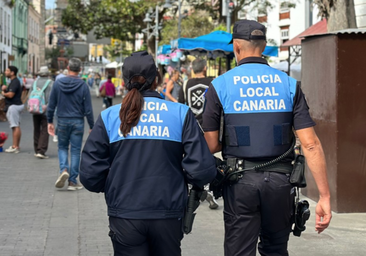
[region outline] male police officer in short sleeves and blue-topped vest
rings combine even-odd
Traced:
[[[205,138],[212,153],[222,151],[230,167],[238,170],[284,154],[292,146],[294,128],[320,194],[315,225],[320,233],[332,216],[324,153],[299,84],[261,58],[265,33],[265,27],[255,21],[235,23],[238,66],[213,80],[206,93]],[[220,116],[224,119],[222,143]],[[292,160],[244,172],[235,184],[224,187],[226,256],[255,256],[258,237],[261,255],[288,255],[295,196],[289,183]]]

